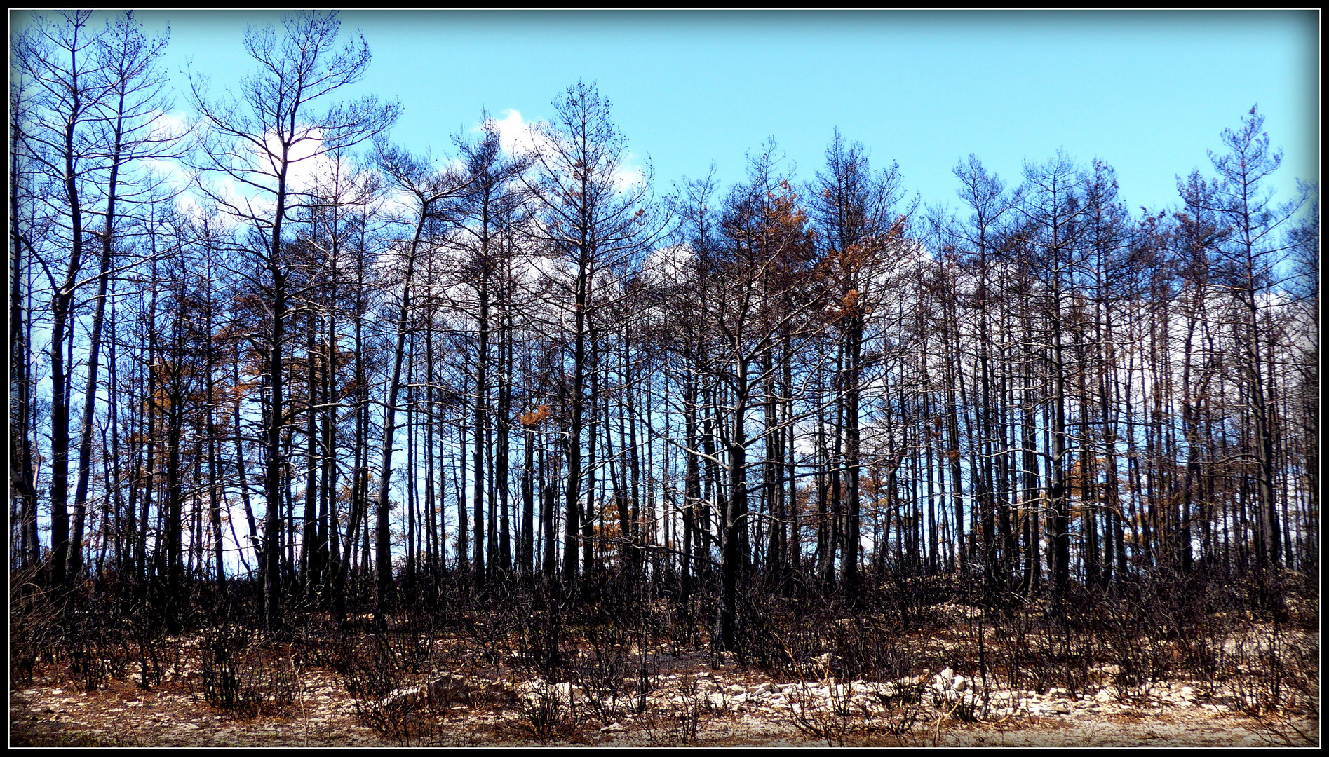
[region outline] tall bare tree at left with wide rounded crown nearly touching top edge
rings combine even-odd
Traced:
[[[335,12],[286,16],[282,35],[268,27],[249,29],[245,50],[258,72],[241,82],[243,102],[234,96],[211,101],[207,80],[190,78],[190,100],[199,113],[205,142],[198,169],[235,182],[235,191],[207,190],[209,197],[253,230],[253,254],[267,271],[266,299],[271,311],[267,343],[270,398],[264,424],[266,576],[267,620],[280,616],[280,511],[284,454],[282,432],[282,344],[287,317],[287,268],[283,224],[306,205],[306,189],[292,181],[292,169],[332,151],[344,150],[383,133],[396,120],[396,104],[381,105],[373,96],[350,104],[324,105],[338,89],[359,81],[369,65],[363,35],[338,45],[342,21]],[[391,564],[380,564],[391,571]]]

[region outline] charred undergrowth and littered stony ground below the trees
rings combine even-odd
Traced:
[[[177,635],[149,603],[28,599],[11,744],[1318,745],[1317,596],[1260,611],[1127,586],[1057,612],[940,579],[852,603],[752,592],[719,651],[683,620],[710,598],[629,586],[445,587],[385,627],[311,610],[264,628],[231,600]]]

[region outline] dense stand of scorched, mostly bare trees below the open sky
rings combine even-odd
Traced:
[[[279,623],[610,571],[715,596],[727,648],[750,588],[1318,570],[1318,195],[1269,197],[1253,108],[1168,210],[1063,154],[1018,185],[970,155],[921,207],[839,133],[808,181],[772,142],[658,197],[590,84],[526,153],[485,117],[432,161],[339,100],[369,52],[335,15],[251,31],[189,129],[166,44],[132,13],[11,39],[33,590],[178,624],[238,582]]]

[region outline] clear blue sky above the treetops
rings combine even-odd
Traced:
[[[21,12],[13,12],[21,23]],[[267,11],[142,11],[169,19],[166,65],[219,90],[253,70],[246,24]],[[453,153],[481,108],[525,121],[578,78],[614,104],[655,189],[714,161],[728,185],[775,137],[813,178],[832,129],[900,163],[924,202],[958,203],[950,169],[975,153],[1007,183],[1058,147],[1116,167],[1132,207],[1176,205],[1175,177],[1253,104],[1285,153],[1278,197],[1318,178],[1318,15],[1294,12],[385,12],[342,13],[373,53],[348,94],[397,98],[392,138]],[[181,92],[183,92],[181,89]],[[185,109],[183,97],[177,108]]]

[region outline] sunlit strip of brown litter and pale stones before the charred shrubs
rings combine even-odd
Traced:
[[[440,641],[445,643],[445,641]],[[1318,635],[1314,635],[1318,645]],[[356,701],[335,671],[292,655],[287,696],[241,717],[207,701],[198,639],[158,685],[133,667],[86,691],[65,663],[11,680],[12,746],[1318,746],[1318,705],[1252,717],[1240,692],[1199,681],[1010,691],[995,681],[924,671],[894,683],[783,681],[715,668],[699,652],[649,655],[650,692],[609,697],[545,684],[506,665],[452,656],[383,700]],[[288,648],[290,649],[290,648]],[[276,655],[280,657],[280,655]],[[449,659],[447,655],[440,659]],[[278,659],[280,665],[282,660]],[[447,671],[447,672],[444,672]],[[1106,679],[1100,679],[1106,680]],[[627,687],[623,687],[625,689]],[[372,697],[371,697],[372,699]],[[359,705],[359,711],[358,711]],[[389,707],[391,705],[391,707]],[[396,713],[395,729],[365,712]],[[380,721],[381,722],[381,721]],[[385,732],[388,732],[385,734]]]

